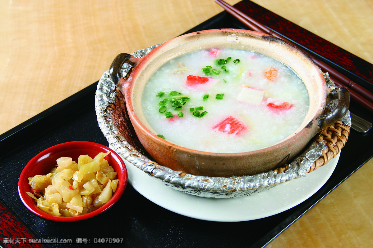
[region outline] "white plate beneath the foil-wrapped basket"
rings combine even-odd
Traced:
[[[254,220],[275,215],[307,200],[332,175],[340,153],[326,165],[267,191],[232,199],[214,199],[182,193],[164,185],[128,161],[129,183],[147,199],[172,212],[220,222]]]

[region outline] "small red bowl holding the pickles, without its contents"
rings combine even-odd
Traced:
[[[73,161],[78,161],[79,155],[85,155],[94,158],[99,152],[107,152],[110,151],[110,154],[105,157],[105,159],[109,162],[109,165],[113,167],[115,172],[117,173],[117,178],[119,179],[119,183],[115,193],[113,194],[112,198],[104,204],[104,206],[94,210],[93,212],[87,213],[85,215],[80,216],[72,216],[72,217],[62,217],[62,216],[54,216],[48,213],[43,212],[38,207],[36,207],[36,202],[32,199],[26,192],[31,192],[31,187],[28,185],[28,177],[32,177],[35,175],[46,175],[50,172],[50,170],[56,166],[57,158],[60,157],[70,157]],[[48,219],[48,220],[55,220],[55,221],[76,221],[76,220],[83,220],[98,215],[109,209],[113,204],[122,196],[123,191],[126,188],[127,184],[127,169],[122,160],[122,158],[112,149],[97,144],[94,142],[88,141],[72,141],[66,142],[59,145],[52,146],[38,155],[36,155],[32,160],[30,160],[25,168],[22,170],[22,173],[19,177],[18,181],[18,194],[21,197],[23,204],[35,215],[40,216],[41,218]]]

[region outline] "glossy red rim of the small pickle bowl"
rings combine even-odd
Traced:
[[[72,150],[74,148],[75,149],[81,149],[81,148],[91,149],[93,151],[95,151],[97,148],[99,148],[102,151],[106,151],[106,152],[110,151],[109,155],[112,156],[112,158],[117,162],[117,164],[119,165],[119,167],[122,169],[122,177],[121,178],[123,178],[123,181],[121,181],[122,182],[122,183],[120,183],[121,185],[118,184],[119,187],[117,188],[117,190],[115,191],[115,193],[113,194],[113,196],[109,200],[109,202],[107,202],[106,204],[104,204],[104,206],[102,206],[102,207],[94,210],[93,212],[87,213],[85,215],[70,216],[70,217],[54,216],[54,215],[50,215],[48,213],[45,213],[45,212],[43,212],[42,210],[40,210],[40,209],[38,209],[36,207],[36,203],[35,203],[34,200],[32,200],[32,202],[34,202],[34,206],[30,206],[30,202],[31,201],[28,200],[26,197],[29,197],[29,198],[31,198],[31,197],[25,191],[25,187],[27,187],[27,186],[25,186],[25,183],[28,184],[28,182],[26,182],[27,178],[29,176],[28,173],[31,170],[31,168],[34,166],[34,164],[36,162],[38,162],[38,160],[42,159],[44,156],[46,156],[48,154],[51,154],[51,153],[54,153],[56,151],[56,149],[58,151],[61,151],[61,150],[63,151],[63,149],[65,149],[65,150]],[[95,142],[90,142],[90,141],[70,141],[70,142],[64,142],[64,143],[61,143],[61,144],[57,144],[57,145],[51,146],[51,147],[49,147],[47,149],[44,149],[43,151],[41,151],[37,155],[35,155],[25,165],[25,167],[23,168],[23,170],[22,170],[22,172],[21,172],[21,174],[19,176],[19,180],[18,180],[18,195],[19,195],[22,203],[25,205],[25,207],[28,210],[30,210],[32,213],[34,213],[35,215],[37,215],[37,216],[39,216],[41,218],[44,218],[44,219],[48,219],[48,220],[61,221],[61,222],[70,222],[70,221],[88,219],[88,218],[91,218],[93,216],[96,216],[96,215],[98,215],[100,213],[103,213],[106,210],[108,210],[122,196],[122,194],[123,194],[123,192],[124,192],[124,190],[126,188],[127,182],[128,182],[128,173],[127,173],[126,165],[125,165],[122,157],[119,154],[117,154],[117,152],[115,152],[113,149],[111,149],[111,148],[109,148],[109,147],[107,147],[105,145],[102,145],[102,144],[99,144],[99,143],[95,143]],[[31,192],[31,187],[29,187],[29,188],[30,188],[30,192]]]

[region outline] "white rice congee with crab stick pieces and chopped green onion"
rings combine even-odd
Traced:
[[[198,151],[248,152],[291,135],[308,111],[303,81],[254,51],[189,52],[154,73],[142,94],[151,131]]]

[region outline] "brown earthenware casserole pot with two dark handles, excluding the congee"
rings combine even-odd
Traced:
[[[148,79],[170,59],[209,48],[257,51],[292,68],[303,80],[310,99],[308,113],[301,126],[278,144],[241,153],[196,151],[168,142],[153,133],[141,111],[141,96]],[[124,63],[133,67],[127,75],[120,74]],[[167,41],[142,58],[119,54],[114,59],[109,74],[125,96],[128,115],[135,132],[154,161],[172,170],[192,175],[253,175],[283,166],[286,161],[292,161],[317,132],[341,119],[350,102],[350,94],[345,88],[329,91],[320,68],[299,49],[273,36],[249,30],[204,30]],[[331,99],[338,99],[338,102],[330,113],[324,113],[326,104]]]

